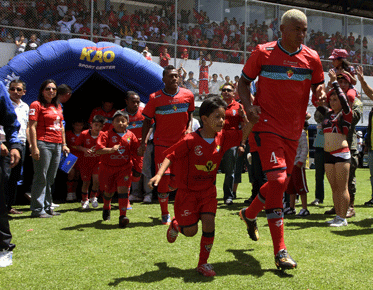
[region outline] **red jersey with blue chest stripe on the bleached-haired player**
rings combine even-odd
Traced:
[[[273,132],[298,141],[311,85],[324,82],[317,52],[302,45],[289,54],[280,40],[258,45],[247,60],[242,76],[249,81],[259,77],[254,105],[260,106],[261,114],[253,131]]]

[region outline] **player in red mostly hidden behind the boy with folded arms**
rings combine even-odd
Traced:
[[[128,91],[126,97],[127,107],[122,111],[126,112],[129,117],[127,129],[135,134],[136,138],[141,141],[142,139],[142,125],[144,123],[144,115],[142,111],[143,107],[140,107],[140,97],[134,91]],[[142,168],[143,157],[140,157]],[[131,184],[131,194],[129,196],[130,201],[144,201],[145,203],[152,202],[152,190],[148,186],[149,179],[141,174],[140,180],[138,182],[132,182]],[[145,195],[143,197],[143,190]]]

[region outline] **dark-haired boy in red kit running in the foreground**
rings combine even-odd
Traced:
[[[179,232],[187,237],[198,231],[202,221],[202,239],[197,271],[204,276],[215,276],[213,267],[207,263],[215,233],[216,173],[224,152],[233,146],[245,146],[252,124],[243,131],[222,131],[227,104],[219,97],[205,100],[199,110],[202,128],[185,135],[166,152],[161,168],[149,181],[157,186],[162,175],[174,163],[178,185],[175,198],[175,217],[167,230],[167,240],[175,242]]]

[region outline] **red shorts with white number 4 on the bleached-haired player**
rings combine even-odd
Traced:
[[[257,149],[264,172],[286,169],[287,174],[291,174],[298,141],[285,139],[272,133],[260,133],[255,142],[258,145]]]

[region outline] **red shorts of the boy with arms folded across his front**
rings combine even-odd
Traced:
[[[100,190],[108,193],[116,192],[118,187],[131,186],[131,173],[132,168],[123,168],[122,166],[107,166],[100,164],[99,169],[99,182]]]

